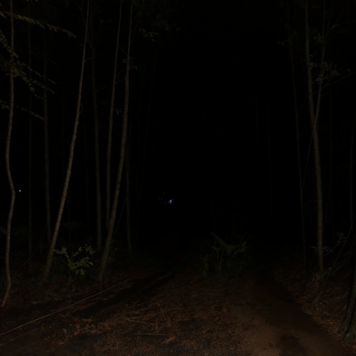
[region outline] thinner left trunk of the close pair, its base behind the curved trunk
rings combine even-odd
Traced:
[[[112,120],[114,117],[116,70],[117,70],[117,57],[119,55],[119,38],[120,38],[121,12],[122,12],[121,9],[122,9],[122,0],[120,1],[119,25],[117,26],[114,74],[112,76],[111,103],[110,103],[109,126],[108,126],[108,144],[106,148],[106,202],[105,202],[106,230],[109,229],[109,220],[110,220],[110,200],[111,200],[110,199],[110,195],[111,195],[110,172],[111,172]]]

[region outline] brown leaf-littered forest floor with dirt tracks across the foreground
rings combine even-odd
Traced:
[[[1,310],[0,355],[356,354],[356,341],[341,341],[345,301],[335,307],[333,293],[312,308],[297,277],[256,267],[218,280],[195,266],[121,275],[106,289]]]

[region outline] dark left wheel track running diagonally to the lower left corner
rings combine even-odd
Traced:
[[[0,355],[16,356],[63,356],[80,355],[81,351],[93,342],[98,341],[101,335],[83,334],[67,339],[68,320],[89,319],[99,323],[110,318],[110,315],[130,299],[149,297],[151,293],[167,283],[174,277],[173,272],[154,271],[147,277],[139,278],[131,283],[129,288],[121,289],[118,286],[100,297],[86,300],[51,318],[45,318],[33,324],[14,330],[0,339]],[[82,304],[82,305],[80,305]],[[53,342],[57,345],[53,345]]]

